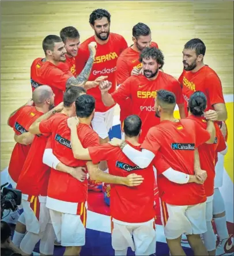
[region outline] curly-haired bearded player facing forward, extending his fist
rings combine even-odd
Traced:
[[[160,118],[154,116],[154,99],[158,90],[167,89],[175,93],[181,117],[184,116],[184,106],[179,82],[169,74],[158,71],[164,65],[163,53],[156,47],[146,47],[141,52],[140,61],[143,65],[144,75],[127,78],[118,90],[112,93],[108,91],[111,88],[111,83],[108,81],[101,82],[100,89],[103,103],[106,106],[112,106],[127,97],[131,98],[133,114],[138,115],[142,120],[142,133],[139,138],[141,143],[150,127],[160,123]]]

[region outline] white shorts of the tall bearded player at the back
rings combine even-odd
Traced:
[[[108,132],[112,127],[114,110],[115,107],[112,107],[105,112],[95,112],[92,127],[103,140],[108,137]]]

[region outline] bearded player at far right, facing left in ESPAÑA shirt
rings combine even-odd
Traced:
[[[191,39],[184,45],[184,70],[179,77],[179,82],[183,86],[186,116],[190,96],[195,91],[201,91],[205,93],[207,99],[204,117],[212,121],[225,121],[228,115],[221,81],[216,72],[203,63],[205,52],[206,46],[201,39]]]

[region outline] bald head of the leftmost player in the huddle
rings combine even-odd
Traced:
[[[36,106],[40,106],[46,101],[46,99],[50,99],[52,94],[53,92],[50,86],[41,85],[33,91],[32,100]]]

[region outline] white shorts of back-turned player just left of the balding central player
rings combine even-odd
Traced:
[[[50,209],[51,223],[62,246],[85,245],[86,216],[86,209],[82,216]]]

